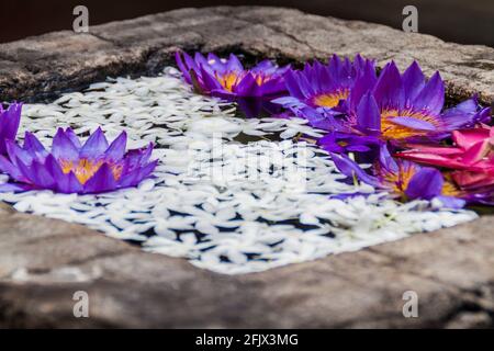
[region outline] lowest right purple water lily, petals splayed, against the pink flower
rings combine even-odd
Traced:
[[[330,155],[335,166],[345,176],[386,190],[402,201],[437,199],[451,208],[461,208],[465,204],[465,201],[460,199],[461,193],[451,182],[445,180],[439,170],[406,160],[394,160],[386,146],[381,147],[379,160],[372,167],[372,174],[367,173],[346,155]]]

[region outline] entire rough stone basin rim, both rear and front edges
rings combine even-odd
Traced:
[[[283,60],[362,53],[440,69],[453,98],[494,97],[494,49],[273,8],[183,9],[0,45],[0,99],[154,73],[177,48]],[[494,326],[494,217],[262,273],[224,276],[79,225],[0,207],[0,327]],[[405,291],[418,318],[404,318]],[[72,294],[90,296],[75,318]]]

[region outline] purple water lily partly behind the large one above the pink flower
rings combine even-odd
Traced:
[[[327,65],[315,60],[305,64],[303,70],[290,69],[285,75],[285,84],[290,97],[273,102],[291,109],[296,115],[304,116],[303,110],[315,109],[319,113],[338,114],[337,107],[347,100],[356,79],[363,72],[375,77],[374,63],[357,55],[351,63],[347,57],[334,55]]]

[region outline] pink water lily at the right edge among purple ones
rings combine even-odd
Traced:
[[[494,185],[494,127],[454,131],[452,139],[452,147],[413,145],[396,156],[452,169],[452,179],[464,189]]]

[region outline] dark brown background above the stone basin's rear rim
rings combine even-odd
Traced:
[[[402,10],[418,9],[418,31],[446,41],[494,47],[494,0],[0,0],[0,43],[71,30],[72,9],[89,9],[89,25],[186,7],[257,4],[402,27]]]

